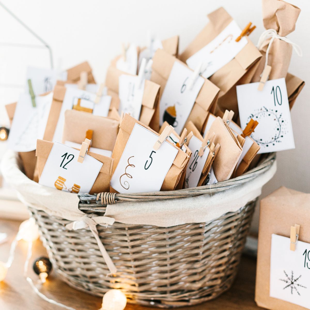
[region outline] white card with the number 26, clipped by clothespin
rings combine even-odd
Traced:
[[[186,188],[196,187],[198,185],[202,169],[207,161],[210,149],[205,148],[203,155],[199,156],[198,152],[201,148],[201,144],[202,141],[200,141],[195,136],[193,136],[192,139],[190,139],[189,141],[188,147],[193,152],[193,154],[189,159],[189,163],[186,168],[186,179],[185,179]]]

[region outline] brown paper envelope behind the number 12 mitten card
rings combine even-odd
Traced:
[[[47,162],[47,158],[51,153],[51,149],[54,143],[44,140],[37,141],[37,151],[36,156],[38,158],[38,175],[39,179],[42,175],[42,171],[44,166]],[[91,188],[90,194],[101,193],[101,192],[108,192],[110,188],[110,180],[112,177],[112,170],[113,170],[113,158],[106,157],[100,154],[95,154],[92,152],[87,152],[87,155],[94,157],[95,159],[99,160],[103,163],[100,172],[95,180],[93,187]]]

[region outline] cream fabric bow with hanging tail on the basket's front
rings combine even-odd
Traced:
[[[84,229],[84,228],[89,227],[89,229],[91,230],[91,232],[93,233],[97,241],[102,257],[105,263],[107,264],[110,273],[112,274],[116,273],[117,269],[99,238],[97,224],[107,224],[107,225],[112,226],[114,221],[115,219],[113,219],[112,217],[108,217],[108,216],[88,217],[87,215],[84,215],[79,221],[74,221],[66,225],[66,228],[73,229],[73,230]]]

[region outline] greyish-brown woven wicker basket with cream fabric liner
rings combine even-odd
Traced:
[[[268,170],[275,155],[236,179],[211,187],[140,194],[81,195],[79,209],[104,215],[107,203],[171,199],[216,193]],[[207,199],[207,198],[206,198]],[[100,239],[117,267],[109,272],[92,233],[68,230],[68,220],[29,208],[56,271],[78,290],[102,296],[122,289],[131,303],[161,308],[188,306],[214,299],[228,290],[237,273],[255,201],[208,223],[173,227],[122,224],[98,225]]]

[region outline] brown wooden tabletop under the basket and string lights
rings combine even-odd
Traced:
[[[20,222],[0,219],[0,232],[6,232],[9,240],[0,245],[0,260],[7,261],[12,239],[18,231]],[[0,282],[0,309],[1,310],[58,310],[62,309],[49,304],[38,297],[23,276],[24,262],[27,253],[27,243],[19,241],[16,248],[15,260],[8,271],[7,277]],[[41,241],[33,244],[33,256],[30,260],[28,276],[33,280],[38,276],[32,270],[33,261],[39,256],[46,256],[46,250]],[[197,306],[191,310],[254,310],[262,309],[256,306],[254,301],[256,260],[243,256],[238,276],[232,288],[218,299]],[[102,299],[80,292],[60,281],[55,272],[47,282],[39,289],[48,298],[63,303],[76,310],[98,310],[101,308]],[[127,304],[126,310],[151,310],[154,308],[141,307]],[[180,310],[189,309],[179,308]]]

